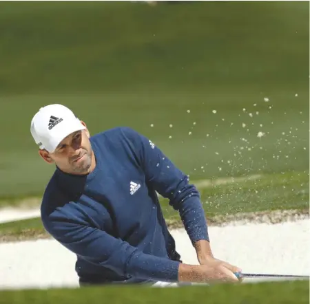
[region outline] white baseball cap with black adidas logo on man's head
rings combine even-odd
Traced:
[[[86,127],[68,107],[58,104],[39,109],[32,118],[30,127],[36,144],[48,152],[53,152],[63,138],[84,129]]]

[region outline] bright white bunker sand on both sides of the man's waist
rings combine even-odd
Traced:
[[[211,247],[218,259],[243,272],[310,274],[309,219],[283,224],[209,227]],[[185,263],[197,263],[184,230],[172,231]],[[0,287],[78,286],[76,258],[54,240],[0,243]],[[245,281],[254,281],[247,279]]]

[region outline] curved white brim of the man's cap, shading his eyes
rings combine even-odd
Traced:
[[[70,122],[66,122],[63,120],[59,125],[56,125],[53,130],[53,134],[51,134],[50,144],[46,146],[49,152],[54,152],[56,147],[60,144],[60,142],[66,138],[71,133],[76,131],[85,130],[86,127],[81,123],[81,121],[76,118],[76,120],[71,120]]]

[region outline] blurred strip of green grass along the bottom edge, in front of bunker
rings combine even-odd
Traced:
[[[209,304],[306,304],[309,281],[285,281],[256,284],[220,284],[180,288],[83,287],[79,289],[14,290],[0,292],[0,303],[209,303]]]

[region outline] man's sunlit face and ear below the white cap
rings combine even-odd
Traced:
[[[82,123],[85,125],[84,122]],[[39,154],[45,162],[56,164],[65,173],[90,173],[94,163],[94,153],[89,138],[90,133],[87,129],[76,131],[64,138],[54,152],[40,150]]]

